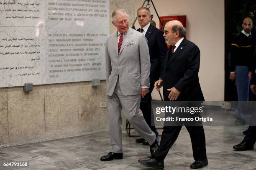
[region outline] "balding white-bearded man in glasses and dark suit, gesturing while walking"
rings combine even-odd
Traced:
[[[172,45],[167,51],[164,62],[164,75],[155,82],[156,90],[163,86],[164,100],[204,101],[199,83],[200,50],[193,42],[185,38],[186,30],[177,20],[169,21],[164,27],[164,38]],[[195,162],[190,168],[202,168],[208,165],[203,126],[185,125],[191,139]],[[182,126],[166,126],[162,133],[159,149],[154,158],[138,160],[141,165],[164,169],[164,158],[177,140]]]

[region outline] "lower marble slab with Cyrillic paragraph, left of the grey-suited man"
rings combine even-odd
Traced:
[[[56,27],[46,30],[51,36],[46,42],[44,84],[94,78],[105,80],[105,41],[109,28]]]

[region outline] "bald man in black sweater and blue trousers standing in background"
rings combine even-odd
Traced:
[[[230,80],[236,79],[238,101],[249,100],[249,85],[253,66],[254,45],[251,35],[253,22],[251,18],[245,18],[242,24],[243,30],[237,35],[230,49]],[[238,102],[235,112],[236,117],[248,120],[248,106],[246,102]],[[244,132],[246,133],[246,131]]]

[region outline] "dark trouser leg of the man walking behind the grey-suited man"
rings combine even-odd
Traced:
[[[151,83],[150,83],[151,84]],[[153,84],[154,85],[154,84]],[[151,93],[154,89],[154,86],[150,86],[148,89],[148,93],[144,96],[144,98],[141,98],[141,104],[140,104],[140,109],[143,113],[143,117],[146,120],[149,128],[156,134],[158,135],[158,132],[156,130],[156,126],[154,123],[154,114],[153,110],[151,108]]]

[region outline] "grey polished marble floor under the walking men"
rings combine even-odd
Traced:
[[[205,126],[209,165],[203,170],[256,170],[256,149],[237,152],[232,146],[243,139],[246,127]],[[29,161],[29,167],[0,167],[0,170],[150,170],[138,163],[147,159],[149,146],[135,142],[123,131],[123,160],[101,162],[109,151],[109,133],[102,132],[73,138],[0,148],[0,162]],[[165,170],[187,170],[193,162],[192,147],[186,128],[164,160]]]

